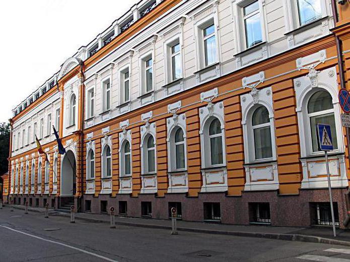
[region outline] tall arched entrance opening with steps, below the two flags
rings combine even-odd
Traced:
[[[61,197],[73,197],[76,194],[76,157],[71,150],[68,150],[61,166]]]

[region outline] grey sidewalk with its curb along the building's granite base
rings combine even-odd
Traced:
[[[10,206],[7,205],[4,208],[9,207]],[[19,205],[13,205],[13,207],[14,209],[25,209],[24,206]],[[28,211],[45,213],[44,208],[28,207]],[[49,209],[49,216],[69,218],[71,215]],[[110,223],[110,216],[107,214],[76,213],[75,218],[77,220],[85,220],[90,222]],[[148,219],[116,216],[115,224],[168,229],[169,231],[171,230],[170,219]],[[331,227],[276,227],[265,225],[245,226],[177,220],[177,230],[350,246],[350,231],[337,229],[337,236],[334,238]]]

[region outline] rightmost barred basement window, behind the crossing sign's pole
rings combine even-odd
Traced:
[[[312,225],[333,226],[329,202],[311,203]],[[338,203],[333,202],[334,223],[339,226]]]

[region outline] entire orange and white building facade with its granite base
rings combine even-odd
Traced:
[[[346,227],[338,90],[348,88],[350,4],[314,0],[310,13],[299,2],[133,6],[14,109],[10,198],[130,217],[166,219],[176,207],[190,221],[329,226],[315,133],[327,123],[336,225]]]

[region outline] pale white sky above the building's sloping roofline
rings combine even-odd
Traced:
[[[137,0],[12,0],[0,9],[0,122]]]

